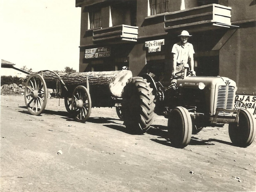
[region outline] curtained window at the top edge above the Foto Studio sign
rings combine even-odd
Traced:
[[[150,15],[168,12],[168,0],[149,0]]]

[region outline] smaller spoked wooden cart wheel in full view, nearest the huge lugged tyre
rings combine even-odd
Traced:
[[[72,95],[72,111],[75,120],[85,122],[89,119],[92,109],[92,101],[89,91],[84,86],[77,86]]]

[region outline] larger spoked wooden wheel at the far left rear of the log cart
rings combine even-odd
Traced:
[[[48,89],[44,78],[39,74],[29,76],[24,91],[25,104],[32,115],[39,115],[45,109]]]

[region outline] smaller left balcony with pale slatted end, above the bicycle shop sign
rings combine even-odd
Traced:
[[[130,25],[117,25],[113,27],[100,28],[93,30],[94,43],[124,43],[137,42],[138,27]]]

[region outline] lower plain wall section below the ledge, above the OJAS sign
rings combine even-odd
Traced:
[[[236,81],[237,93],[256,92],[255,25],[244,24],[220,49],[220,75]]]

